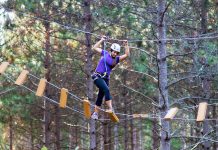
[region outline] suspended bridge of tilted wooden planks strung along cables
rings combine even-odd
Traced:
[[[5,72],[5,70],[7,69],[7,67],[9,66],[10,64],[8,62],[3,62],[1,63],[0,65],[0,74],[3,74]],[[29,71],[27,70],[23,70],[20,75],[18,76],[17,80],[15,81],[15,84],[16,85],[22,85],[24,84],[25,80],[27,79],[27,76],[29,74]],[[5,74],[5,76],[7,77],[7,74]],[[10,77],[7,77],[9,78],[10,80],[12,80],[14,82],[13,79],[11,79]],[[44,90],[46,88],[46,84],[47,84],[47,81],[46,79],[42,78],[40,79],[40,82],[39,82],[39,85],[38,85],[38,89],[36,91],[36,93],[34,91],[32,91],[31,89],[28,89],[32,92],[34,92],[37,96],[43,96],[43,93],[44,93]],[[25,85],[23,85],[23,87],[25,87]],[[60,89],[60,88],[59,88]],[[61,89],[61,95],[60,96],[60,107],[63,107],[65,108],[66,107],[66,103],[67,103],[67,94],[68,94],[68,90],[67,89],[64,89],[62,88]],[[76,96],[77,97],[77,96]],[[88,100],[82,100],[81,98],[77,97],[79,100],[83,101],[83,107],[84,107],[84,115],[87,119],[90,119],[91,117],[91,104]],[[55,103],[56,104],[56,103]],[[211,104],[210,104],[211,105]],[[1,105],[0,105],[1,106]],[[194,106],[196,107],[196,106]],[[196,121],[197,122],[203,122],[204,120],[216,120],[216,119],[206,119],[206,115],[207,115],[207,107],[208,107],[208,103],[207,102],[201,102],[199,103],[199,106],[198,106],[198,114],[197,114],[197,118],[196,118]],[[172,108],[170,109],[167,114],[165,115],[164,118],[161,118],[160,119],[165,119],[165,120],[173,120],[174,116],[176,115],[176,113],[178,112],[178,108],[175,107],[175,108]],[[102,110],[104,111],[104,110]],[[116,114],[114,112],[109,112],[109,111],[106,111],[106,113],[109,114],[109,117],[111,118],[112,121],[114,122],[119,122],[119,118],[116,116]],[[82,113],[81,113],[82,114]],[[127,114],[121,114],[119,113],[119,115],[127,115]],[[128,115],[130,116],[130,115]],[[133,118],[154,118],[154,117],[149,117],[148,114],[133,114],[131,115]],[[158,118],[158,117],[155,117],[155,118]],[[177,120],[181,119],[181,120],[193,120],[193,119],[184,119],[184,118],[176,118]]]

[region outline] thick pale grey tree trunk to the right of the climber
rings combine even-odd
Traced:
[[[158,0],[158,69],[159,69],[159,104],[161,106],[160,113],[161,118],[167,113],[169,108],[168,102],[168,90],[167,90],[167,61],[166,61],[166,27],[165,27],[165,10],[166,9],[166,1]],[[161,149],[162,150],[170,150],[170,124],[169,122],[161,119]]]

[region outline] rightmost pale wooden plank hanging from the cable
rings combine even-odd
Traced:
[[[198,115],[197,115],[197,122],[202,122],[205,120],[207,114],[207,102],[201,102],[198,106]]]

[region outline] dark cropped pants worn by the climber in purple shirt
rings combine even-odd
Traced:
[[[109,90],[109,80],[105,78],[97,78],[94,80],[94,84],[98,87],[98,98],[96,101],[97,106],[101,106],[103,97],[105,96],[105,101],[111,100],[110,90]]]

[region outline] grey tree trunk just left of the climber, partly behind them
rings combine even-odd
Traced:
[[[90,5],[91,5],[91,0],[84,0],[84,25],[85,25],[85,31],[86,32],[91,32],[92,26],[92,15],[91,15],[91,10],[90,10]],[[93,81],[91,78],[92,74],[92,51],[91,51],[91,35],[89,33],[85,34],[86,38],[86,66],[85,66],[85,72],[87,76],[86,80],[86,95],[89,100],[93,101]],[[91,149],[96,149],[96,129],[95,129],[95,121],[90,120],[90,148]]]

